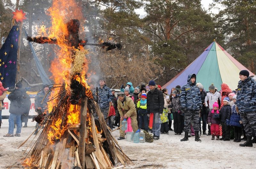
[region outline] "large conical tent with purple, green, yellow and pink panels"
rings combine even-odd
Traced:
[[[244,69],[248,70],[214,40],[196,60],[162,88],[171,91],[177,85],[182,87],[187,84],[188,74],[196,74],[196,82],[202,83],[206,91],[212,83],[218,90],[222,83],[226,83],[235,90],[240,80],[239,72]],[[249,72],[250,76],[254,75],[251,71]]]

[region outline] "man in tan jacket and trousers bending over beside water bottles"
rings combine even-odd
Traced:
[[[138,128],[138,122],[137,122],[137,113],[135,109],[135,104],[133,100],[130,97],[126,97],[124,95],[124,92],[119,92],[117,94],[118,100],[117,100],[117,109],[120,114],[120,126],[122,125],[122,122],[124,118],[131,118],[131,125],[133,132],[136,132]],[[120,128],[120,137],[117,138],[118,140],[124,139],[124,130]]]

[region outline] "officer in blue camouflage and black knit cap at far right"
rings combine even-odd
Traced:
[[[247,70],[239,73],[236,105],[244,125],[247,141],[241,147],[252,147],[252,134],[256,133],[256,81]]]

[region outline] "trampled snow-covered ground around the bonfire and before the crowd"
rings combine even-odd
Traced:
[[[31,142],[31,138],[34,137],[31,137],[19,149],[18,147],[35,130],[35,125],[35,122],[29,122],[27,128],[22,127],[21,137],[3,137],[4,134],[8,133],[8,120],[3,120],[0,129],[0,168],[11,165],[21,168],[22,158],[25,158],[30,149],[25,150]],[[14,129],[14,133],[15,131],[16,129]],[[119,137],[119,130],[114,131],[113,136]],[[174,135],[173,131],[169,131],[169,135],[163,134],[159,140],[153,143],[136,144],[119,140],[119,145],[124,153],[134,163],[134,165],[126,165],[125,168],[247,169],[256,166],[256,144],[253,144],[253,147],[239,147],[239,143],[235,143],[233,140],[211,140],[211,136],[206,135],[201,136],[201,143],[195,142],[195,137],[190,137],[189,141],[180,142],[183,137],[184,134]]]

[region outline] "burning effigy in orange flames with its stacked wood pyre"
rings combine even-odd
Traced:
[[[88,51],[83,48],[87,43],[78,36],[81,10],[74,0],[53,0],[48,12],[52,19],[48,36],[39,35],[27,39],[41,44],[58,45],[57,58],[52,61],[50,68],[55,84],[49,90],[49,114],[36,118],[42,132],[34,144],[30,143],[32,148],[23,165],[47,169],[107,169],[118,162],[131,163],[116,139],[111,136],[87,84]],[[120,44],[111,43],[99,46],[107,46],[107,50],[121,48]]]

